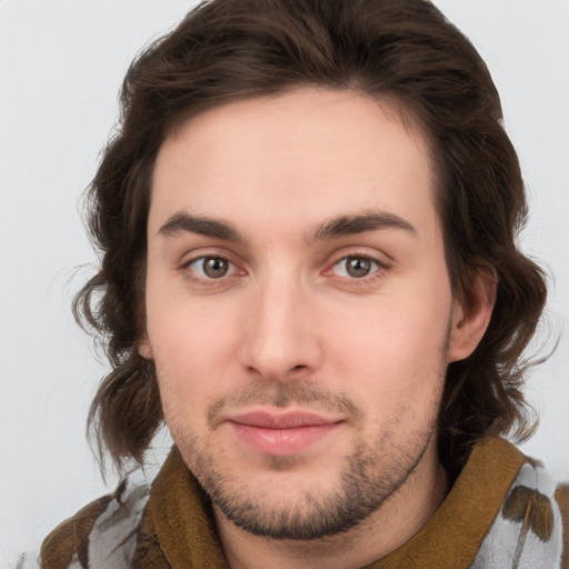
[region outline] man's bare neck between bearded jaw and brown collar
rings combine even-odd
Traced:
[[[432,446],[406,482],[358,526],[312,540],[259,537],[214,509],[230,569],[357,569],[408,541],[427,522],[448,491],[448,478]]]

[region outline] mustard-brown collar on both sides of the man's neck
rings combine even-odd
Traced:
[[[503,439],[479,440],[451,491],[427,523],[369,569],[467,569],[525,462]],[[157,476],[133,567],[227,569],[211,503],[174,447]]]

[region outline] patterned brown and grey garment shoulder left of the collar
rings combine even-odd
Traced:
[[[149,486],[122,481],[59,525],[41,547],[42,569],[128,567]]]

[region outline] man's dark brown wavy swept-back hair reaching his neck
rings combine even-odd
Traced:
[[[468,299],[476,271],[493,271],[497,299],[476,351],[448,367],[439,448],[450,471],[486,433],[531,431],[521,395],[545,300],[541,270],[516,246],[526,198],[500,100],[472,44],[426,0],[213,0],[192,10],[132,63],[117,132],[88,191],[99,272],[74,299],[102,338],[112,371],[89,415],[121,467],[143,461],[162,411],[144,333],[147,219],[164,138],[224,102],[303,86],[352,89],[395,103],[430,141],[448,270]]]

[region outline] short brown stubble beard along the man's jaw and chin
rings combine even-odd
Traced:
[[[291,400],[315,400],[315,393],[306,385],[282,386],[289,391],[286,395],[279,389],[280,406]],[[306,397],[299,397],[299,393]],[[218,407],[221,408],[222,403]],[[233,525],[254,536],[315,540],[339,535],[359,525],[406,483],[436,435],[437,411],[433,409],[432,417],[417,431],[407,433],[400,445],[392,440],[391,428],[372,443],[359,440],[353,452],[346,458],[346,466],[333,489],[325,495],[315,480],[313,490],[306,490],[287,506],[272,503],[271,491],[278,492],[278,488],[251,488],[231,472],[230,465],[219,468],[219,457],[212,452],[213,447],[207,437],[201,440],[187,438],[186,443],[179,447],[212,505]],[[397,426],[392,428],[397,430]],[[273,472],[293,468],[293,461],[286,458],[271,457],[269,463]]]

